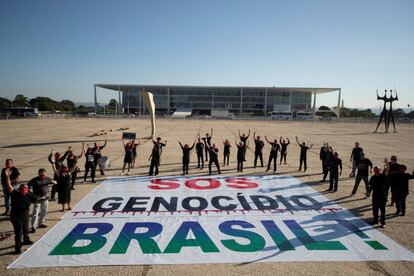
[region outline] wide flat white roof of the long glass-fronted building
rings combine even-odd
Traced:
[[[110,89],[110,90],[136,90],[141,88],[184,88],[184,89],[271,89],[280,92],[306,92],[323,94],[338,91],[341,88],[327,88],[327,87],[278,87],[278,86],[201,86],[201,85],[147,85],[147,84],[104,84],[96,83],[96,87]]]

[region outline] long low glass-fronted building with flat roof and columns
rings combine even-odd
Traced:
[[[95,84],[95,108],[98,107],[97,88],[118,92],[124,113],[146,114],[141,91],[153,93],[157,114],[170,115],[185,110],[193,115],[227,112],[234,116],[267,116],[271,112],[316,112],[316,95],[338,92],[341,88],[316,87],[243,87],[243,86],[181,86]],[[339,112],[335,111],[338,116]]]

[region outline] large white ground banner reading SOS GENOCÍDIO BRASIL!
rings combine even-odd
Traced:
[[[9,268],[414,261],[414,254],[290,176],[114,177]]]

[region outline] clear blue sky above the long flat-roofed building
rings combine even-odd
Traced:
[[[413,14],[412,0],[2,0],[0,96],[92,102],[94,83],[303,86],[340,87],[356,108],[396,89],[407,107]]]

